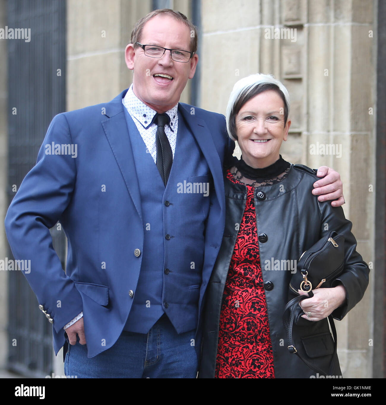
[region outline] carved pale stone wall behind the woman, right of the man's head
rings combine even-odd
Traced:
[[[292,163],[339,171],[343,209],[366,262],[374,261],[375,112],[369,110],[376,100],[374,4],[202,1],[199,55],[201,107],[211,111],[225,113],[234,83],[244,76],[271,73],[283,81],[292,126],[281,154]],[[331,148],[329,153],[315,154],[323,147]],[[373,273],[362,301],[336,322],[343,377],[372,376]]]

